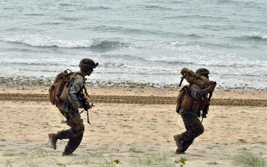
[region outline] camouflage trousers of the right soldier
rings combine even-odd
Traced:
[[[202,125],[197,113],[181,113],[182,120],[185,125],[186,131],[182,134],[182,151],[186,151],[187,148],[193,143],[197,136],[200,136],[204,132],[204,126]]]

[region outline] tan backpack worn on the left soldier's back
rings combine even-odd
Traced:
[[[69,69],[67,69],[69,70]],[[54,80],[52,86],[50,86],[49,92],[49,101],[58,106],[60,102],[65,101],[67,98],[67,92],[69,89],[70,81],[73,81],[76,75],[81,75],[84,79],[85,77],[81,72],[72,72],[70,73],[65,70],[64,72],[59,73]]]

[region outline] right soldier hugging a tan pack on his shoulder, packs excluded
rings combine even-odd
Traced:
[[[197,69],[195,73],[200,73],[199,75],[205,76],[209,79],[209,70],[205,68]],[[173,136],[178,147],[175,154],[184,153],[193,143],[194,139],[204,133],[204,126],[199,119],[200,107],[203,106],[203,97],[207,96],[209,92],[214,91],[215,85],[211,85],[205,89],[201,89],[199,86],[194,84],[190,84],[188,87],[188,96],[191,96],[194,101],[199,101],[200,104],[197,105],[196,108],[191,108],[189,110],[185,110],[182,107],[180,108],[179,113],[184,122],[186,131]]]

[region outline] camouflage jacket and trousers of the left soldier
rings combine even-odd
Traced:
[[[79,102],[82,101],[80,98],[80,93],[83,92],[85,88],[85,80],[81,75],[76,75],[74,81],[70,82],[70,86],[67,93],[67,100],[65,103],[61,103],[58,109],[62,115],[66,114],[69,117],[70,114],[77,120],[80,120],[79,111],[75,108],[82,108]],[[75,128],[69,128],[67,130],[58,131],[58,138],[69,139],[65,150],[75,151],[82,141],[83,132],[85,131],[85,126],[81,122],[75,126]]]

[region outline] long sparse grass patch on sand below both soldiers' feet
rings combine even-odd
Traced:
[[[48,153],[45,150],[38,152],[29,149],[29,152],[18,154],[18,158],[6,160],[5,167],[12,166],[29,166],[29,167],[59,167],[59,166],[90,166],[90,167],[117,167],[129,166],[158,166],[158,167],[182,167],[187,161],[185,158],[175,159],[170,158],[165,153],[152,153],[150,155],[138,156],[133,155],[130,160],[119,159],[114,155],[104,154],[104,151],[95,152],[92,154],[85,154],[79,156],[70,156],[69,159],[63,159],[59,156],[54,156],[54,153]],[[72,159],[70,159],[72,158]],[[65,160],[65,161],[62,161]],[[1,166],[1,165],[0,165]]]

